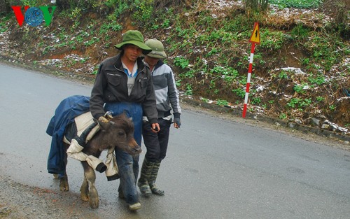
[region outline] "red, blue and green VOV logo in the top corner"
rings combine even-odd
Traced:
[[[15,13],[16,19],[20,27],[22,27],[23,22],[27,22],[31,27],[39,26],[43,20],[45,20],[46,26],[50,25],[52,20],[52,15],[56,9],[56,6],[39,6],[32,7],[24,6],[25,14],[22,13],[22,6],[11,6],[13,12]],[[48,8],[52,8],[51,13]]]

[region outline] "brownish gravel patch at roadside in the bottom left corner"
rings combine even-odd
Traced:
[[[98,218],[78,194],[31,187],[0,173],[0,218]]]

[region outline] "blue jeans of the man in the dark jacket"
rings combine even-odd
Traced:
[[[141,146],[142,106],[134,103],[106,103],[105,111],[112,111],[112,115],[126,113],[134,122],[134,139]],[[139,202],[137,193],[137,177],[139,176],[139,155],[130,155],[124,150],[116,148],[116,159],[119,169],[120,184],[118,192],[122,191],[127,204]]]

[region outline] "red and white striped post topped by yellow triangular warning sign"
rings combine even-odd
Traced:
[[[246,96],[244,97],[244,107],[243,107],[243,115],[242,115],[243,118],[246,117],[246,105],[248,104],[249,87],[251,85],[251,71],[253,70],[253,57],[254,57],[255,44],[260,44],[258,22],[255,22],[254,24],[254,31],[253,31],[253,34],[251,34],[251,38],[249,39],[249,42],[251,43],[251,57],[249,59],[248,77],[246,78]]]

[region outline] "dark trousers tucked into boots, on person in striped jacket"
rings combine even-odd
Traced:
[[[147,148],[145,157],[151,162],[163,160],[167,155],[167,148],[169,142],[169,129],[172,124],[169,120],[162,118],[158,119],[160,125],[160,132],[152,132],[151,124],[145,122],[142,127],[142,136]]]

